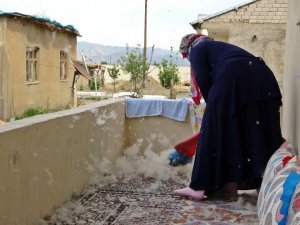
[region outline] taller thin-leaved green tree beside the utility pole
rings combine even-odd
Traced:
[[[149,74],[149,68],[152,60],[154,46],[152,47],[150,62],[145,63],[143,51],[138,45],[135,49],[130,50],[128,46],[127,53],[121,57],[120,64],[124,72],[130,74],[130,81],[133,84],[132,97],[141,97],[141,89],[143,88],[144,81]]]

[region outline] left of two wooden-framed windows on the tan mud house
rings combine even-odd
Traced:
[[[27,47],[26,49],[26,80],[37,81],[37,54],[38,47]]]

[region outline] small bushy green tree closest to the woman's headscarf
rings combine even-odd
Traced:
[[[164,88],[171,88],[171,80],[173,80],[174,85],[179,82],[179,70],[176,64],[171,60],[163,59],[162,62],[158,66],[159,73],[158,78],[160,84]]]

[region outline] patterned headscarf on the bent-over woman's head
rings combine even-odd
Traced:
[[[180,42],[179,51],[183,58],[188,58],[191,46],[195,46],[203,39],[209,39],[208,36],[203,34],[187,34],[183,36]]]

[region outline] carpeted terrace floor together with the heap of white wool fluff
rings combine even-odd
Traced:
[[[171,167],[166,154],[151,153],[139,159],[132,154],[117,160],[113,166],[98,162],[107,169],[105,174],[95,178],[94,184],[73,196],[39,224],[259,224],[256,191],[240,193],[238,200],[231,202],[220,199],[193,201],[175,196],[175,189],[188,184],[192,164]],[[119,172],[116,174],[112,170]]]

